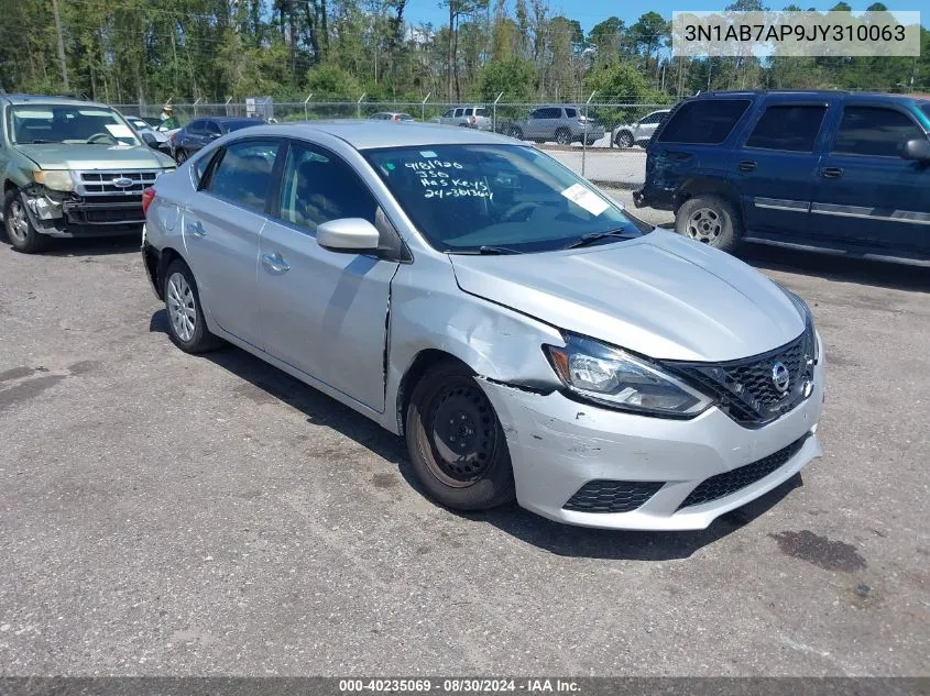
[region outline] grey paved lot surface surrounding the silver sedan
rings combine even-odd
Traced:
[[[750,257],[817,316],[825,455],[617,533],[436,507],[361,416],[174,349],[136,247],[0,246],[0,674],[928,673],[926,270]]]

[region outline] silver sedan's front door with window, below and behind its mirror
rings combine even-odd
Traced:
[[[397,263],[330,252],[317,225],[375,222],[378,203],[349,164],[292,144],[277,213],[262,232],[259,299],[265,350],[357,401],[384,410],[387,302]]]

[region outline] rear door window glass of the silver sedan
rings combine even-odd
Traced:
[[[226,148],[209,183],[220,198],[264,212],[271,185],[271,170],[281,143],[240,141]]]

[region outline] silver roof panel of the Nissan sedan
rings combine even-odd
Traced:
[[[302,121],[263,125],[263,132],[285,137],[313,137],[326,133],[355,150],[376,147],[419,147],[426,145],[515,145],[512,137],[475,129],[453,128],[438,123],[413,122],[398,129],[393,123],[369,120]]]

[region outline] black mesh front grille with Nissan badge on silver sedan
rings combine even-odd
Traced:
[[[813,328],[779,349],[726,363],[678,363],[668,367],[719,400],[722,411],[737,423],[763,426],[791,410],[810,395],[813,379]],[[788,387],[777,388],[774,371],[788,371]]]

